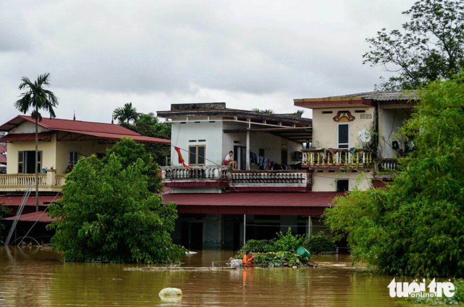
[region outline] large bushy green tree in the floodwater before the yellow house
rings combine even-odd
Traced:
[[[171,263],[185,254],[170,236],[176,205],[162,205],[148,190],[142,159],[126,163],[116,153],[105,162],[82,157],[66,177],[63,198],[49,206],[57,220],[48,226],[65,261]]]

